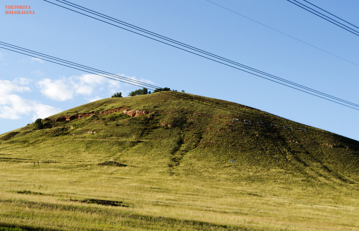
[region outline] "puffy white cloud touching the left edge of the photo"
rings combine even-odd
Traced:
[[[0,118],[21,119],[21,115],[33,114],[33,118],[47,117],[58,112],[60,108],[43,105],[35,100],[23,99],[12,92],[30,91],[26,85],[29,83],[27,78],[15,78],[14,81],[0,80]]]

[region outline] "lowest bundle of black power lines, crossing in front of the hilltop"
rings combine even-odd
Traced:
[[[7,49],[7,50],[11,50],[11,51],[14,51],[14,52],[17,52],[17,53],[25,54],[27,56],[31,56],[31,57],[34,57],[34,58],[39,58],[39,59],[42,59],[42,60],[45,60],[45,61],[48,61],[48,62],[60,64],[62,66],[70,67],[70,68],[77,69],[77,70],[80,70],[80,71],[85,71],[85,72],[88,72],[88,73],[96,74],[98,76],[102,76],[102,77],[109,78],[109,79],[112,79],[112,80],[120,81],[120,82],[123,82],[123,83],[128,83],[128,84],[131,84],[131,85],[134,85],[134,86],[145,87],[145,88],[147,88],[149,90],[153,90],[153,91],[156,90],[154,88],[161,88],[161,87],[158,87],[158,86],[155,86],[155,85],[150,85],[148,83],[140,82],[140,81],[137,81],[137,80],[132,80],[130,78],[126,78],[126,77],[119,76],[119,75],[116,75],[116,74],[112,74],[112,73],[109,73],[109,72],[104,72],[104,71],[101,71],[99,69],[91,68],[91,67],[84,66],[84,65],[81,65],[81,64],[78,64],[78,63],[74,63],[74,62],[66,61],[64,59],[49,56],[49,55],[39,53],[39,52],[36,52],[36,51],[33,51],[33,50],[18,47],[18,46],[9,44],[9,43],[0,42],[0,45],[8,47],[8,48],[6,48],[6,47],[1,47],[0,46],[0,48],[3,48],[3,49]],[[10,49],[10,48],[12,48],[12,49]],[[49,60],[49,59],[51,59],[51,60]],[[108,77],[108,76],[111,76],[111,77]],[[199,104],[203,104],[203,105],[206,105],[206,106],[215,107],[215,108],[218,108],[218,109],[221,109],[221,110],[229,111],[229,112],[232,112],[232,113],[237,114],[237,115],[250,116],[253,119],[260,119],[262,121],[269,122],[269,123],[279,122],[281,125],[285,125],[287,127],[296,127],[296,126],[298,126],[298,124],[294,124],[292,122],[283,123],[283,121],[280,121],[278,119],[270,118],[270,117],[263,116],[263,115],[258,115],[258,114],[252,113],[252,112],[248,112],[248,111],[244,111],[244,110],[241,110],[241,109],[238,109],[238,108],[235,108],[235,107],[215,103],[215,102],[212,102],[212,101],[209,101],[209,100],[204,100],[203,98],[196,97],[196,96],[190,96],[190,95],[182,93],[182,92],[161,91],[161,93],[164,93],[166,95],[171,95],[171,96],[174,96],[174,97],[178,97],[178,98],[182,98],[184,100],[196,102],[196,103],[199,103]],[[327,133],[325,133],[325,132],[323,132],[321,130],[313,129],[311,127],[306,126],[306,130],[309,133],[313,133],[313,134],[317,134],[317,135],[323,135],[323,136],[326,136],[328,138],[332,138],[332,136],[335,136],[337,139],[340,139],[340,140],[343,140],[343,141],[346,141],[346,142],[349,142],[349,143],[355,143],[355,141],[353,142],[352,139],[346,138],[344,136],[340,136],[340,135],[337,135],[337,134],[333,134],[332,136],[329,136]]]

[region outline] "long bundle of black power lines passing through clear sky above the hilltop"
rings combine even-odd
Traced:
[[[328,100],[328,101],[331,101],[331,102],[335,102],[335,103],[337,103],[337,104],[340,104],[340,105],[343,105],[343,106],[346,106],[346,107],[350,107],[350,108],[355,109],[355,110],[359,110],[359,105],[358,105],[358,104],[354,104],[354,103],[352,103],[352,102],[349,102],[349,101],[343,100],[343,99],[341,99],[341,98],[338,98],[338,97],[335,97],[335,96],[332,96],[332,95],[323,93],[323,92],[321,92],[321,91],[317,91],[317,90],[314,90],[314,89],[312,89],[312,88],[305,87],[305,86],[303,86],[303,85],[299,85],[299,84],[297,84],[297,83],[294,83],[294,82],[285,80],[284,78],[280,78],[280,77],[271,75],[271,74],[269,74],[269,73],[259,71],[259,70],[255,69],[255,68],[251,68],[251,67],[245,66],[245,65],[243,65],[243,64],[240,64],[240,63],[231,61],[231,60],[229,60],[229,59],[226,59],[226,58],[217,56],[217,55],[215,55],[215,54],[206,52],[206,51],[204,51],[204,50],[201,50],[201,49],[198,49],[198,48],[195,48],[195,47],[192,47],[192,46],[187,45],[187,44],[185,44],[185,43],[181,43],[181,42],[178,42],[178,41],[176,41],[176,40],[169,39],[169,38],[164,37],[164,36],[162,36],[162,35],[159,35],[159,34],[150,32],[150,31],[145,30],[145,29],[142,29],[142,28],[140,28],[140,27],[136,27],[136,26],[134,26],[134,25],[131,25],[131,24],[129,24],[129,23],[125,23],[125,22],[120,21],[120,20],[118,20],[118,19],[111,18],[111,17],[109,17],[109,16],[107,16],[107,15],[101,14],[101,15],[104,15],[104,16],[101,16],[101,15],[99,15],[100,13],[98,13],[98,12],[96,12],[96,11],[89,10],[89,9],[84,8],[84,7],[82,7],[82,6],[79,6],[79,5],[70,3],[69,1],[63,0],[63,1],[65,1],[65,2],[67,2],[67,3],[73,4],[73,5],[75,5],[75,6],[70,5],[70,4],[67,4],[67,3],[64,3],[64,2],[62,2],[62,1],[60,1],[60,0],[55,0],[55,1],[58,1],[58,2],[60,2],[60,3],[66,4],[66,5],[69,5],[69,6],[72,6],[72,7],[77,8],[77,9],[84,8],[84,9],[86,9],[86,10],[84,10],[84,9],[80,9],[80,10],[86,11],[86,12],[91,13],[91,14],[93,14],[93,15],[97,15],[97,16],[99,16],[99,17],[101,17],[101,18],[105,18],[105,16],[106,16],[107,18],[105,18],[105,19],[107,19],[107,20],[114,21],[114,22],[119,23],[119,24],[121,24],[121,25],[125,25],[126,27],[129,27],[129,28],[131,28],[131,29],[135,29],[135,30],[137,30],[137,31],[139,31],[139,32],[143,32],[143,33],[146,33],[146,34],[148,34],[148,35],[154,36],[154,37],[156,37],[156,38],[166,40],[166,41],[168,41],[168,42],[174,43],[174,44],[176,44],[176,45],[180,45],[180,46],[185,47],[185,48],[190,49],[190,50],[183,49],[183,48],[181,48],[181,47],[177,47],[176,45],[163,42],[163,41],[158,40],[158,39],[156,39],[156,38],[149,37],[148,35],[144,35],[144,34],[141,34],[141,33],[138,33],[138,32],[134,32],[134,31],[132,31],[132,30],[130,30],[130,29],[126,29],[126,28],[123,28],[123,27],[121,27],[121,26],[118,26],[118,25],[109,23],[109,22],[107,22],[107,21],[104,21],[104,20],[95,18],[95,17],[93,17],[93,16],[90,16],[90,15],[87,15],[87,14],[84,14],[84,13],[81,13],[81,12],[79,12],[79,11],[76,11],[76,10],[73,10],[73,9],[70,9],[70,8],[67,8],[67,7],[65,7],[65,6],[61,6],[61,5],[59,5],[59,4],[52,3],[52,2],[50,2],[50,1],[48,1],[48,0],[43,0],[43,1],[46,1],[46,2],[48,2],[48,3],[51,3],[51,4],[54,4],[54,5],[60,6],[60,7],[62,7],[62,8],[65,8],[65,9],[68,9],[68,10],[71,10],[71,11],[74,11],[74,12],[76,12],[76,13],[79,13],[79,14],[82,14],[82,15],[85,15],[85,16],[88,16],[88,17],[90,17],[90,18],[97,19],[97,20],[99,20],[99,21],[102,21],[102,22],[104,22],[104,23],[113,25],[113,26],[115,26],[115,27],[118,27],[118,28],[121,28],[121,29],[125,29],[125,30],[130,31],[130,32],[133,32],[133,33],[135,33],[135,34],[142,35],[142,36],[144,36],[144,37],[146,37],[146,38],[150,38],[150,39],[156,40],[156,41],[158,41],[158,42],[161,42],[161,43],[170,45],[170,46],[172,46],[172,47],[176,47],[176,48],[178,48],[178,49],[187,51],[187,52],[189,52],[189,53],[196,54],[197,56],[200,56],[200,57],[203,57],[203,58],[206,58],[206,59],[210,59],[210,60],[212,60],[212,61],[215,61],[215,62],[224,64],[224,65],[226,65],[226,66],[229,66],[229,67],[232,67],[232,68],[241,70],[241,71],[243,71],[243,72],[250,73],[250,74],[253,74],[253,75],[258,76],[258,77],[261,77],[261,78],[265,78],[266,80],[270,80],[270,81],[272,81],[272,82],[279,83],[279,84],[281,84],[281,85],[284,85],[284,86],[287,86],[287,87],[290,87],[290,88],[293,88],[293,89],[296,89],[296,90],[299,90],[299,91],[308,93],[308,94],[310,94],[310,95],[317,96],[317,97],[323,98],[323,99],[325,99],[325,100]],[[77,6],[79,6],[80,8],[77,7]],[[88,11],[88,10],[89,10],[89,11]],[[90,12],[90,11],[92,11],[92,12]],[[93,12],[95,12],[95,13],[93,13]],[[115,21],[115,20],[116,20],[116,21]],[[192,51],[191,51],[191,50],[192,50]],[[198,53],[195,53],[195,52],[199,52],[199,53],[201,53],[201,54],[198,54]],[[206,56],[204,56],[204,55],[210,56],[210,57],[212,57],[212,58],[206,57]],[[219,59],[219,60],[224,61],[224,62],[218,61],[218,60],[213,59],[213,58]],[[225,62],[226,62],[226,63],[225,63]],[[229,64],[228,64],[228,63],[229,63]],[[232,66],[232,65],[234,65],[234,66]],[[236,67],[236,66],[237,66],[237,67]],[[238,67],[241,67],[241,68],[244,68],[244,69],[247,69],[247,70],[244,70],[244,69],[241,69],[241,68],[238,68]],[[252,73],[252,72],[254,72],[254,73]],[[265,77],[265,76],[266,76],[266,77]],[[267,78],[267,77],[269,77],[269,78]],[[274,80],[273,80],[273,79],[274,79]],[[281,82],[278,82],[278,81],[276,81],[276,80],[281,81]],[[283,83],[283,82],[284,82],[284,83]],[[289,85],[287,85],[286,83],[289,84]],[[290,86],[290,85],[292,85],[292,86]],[[293,87],[293,86],[294,86],[294,87]],[[298,88],[297,88],[297,87],[298,87]],[[304,90],[299,89],[299,88],[302,88],[302,89],[304,89]],[[309,92],[308,92],[308,91],[309,91]],[[313,93],[311,93],[311,92],[313,92]],[[317,94],[318,94],[318,95],[317,95]],[[320,95],[322,95],[323,97],[320,96]],[[326,98],[326,97],[327,97],[327,98]],[[331,100],[330,98],[331,98],[332,100]],[[337,102],[337,101],[339,101],[339,102]],[[349,106],[349,105],[350,105],[350,106]]]

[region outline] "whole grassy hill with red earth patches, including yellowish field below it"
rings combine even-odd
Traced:
[[[252,116],[153,93],[0,135],[0,230],[359,229],[358,141],[196,97]]]

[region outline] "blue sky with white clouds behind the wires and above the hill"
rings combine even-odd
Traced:
[[[206,0],[75,4],[247,66],[359,104],[359,66]],[[359,64],[359,37],[286,0],[213,0],[248,18]],[[359,2],[311,3],[359,25]],[[5,14],[30,5],[33,15]],[[104,24],[45,1],[3,1],[1,41],[156,86],[237,102],[359,140],[359,111]],[[117,91],[110,81],[0,49],[0,134]]]

